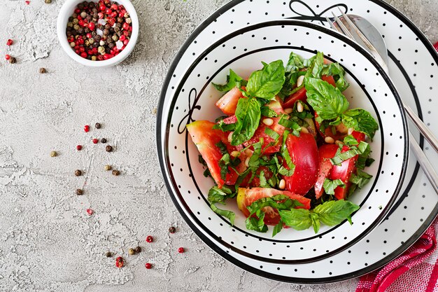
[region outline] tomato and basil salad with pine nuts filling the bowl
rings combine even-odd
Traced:
[[[285,227],[305,230],[333,226],[359,206],[348,201],[372,176],[364,169],[374,161],[366,139],[378,125],[364,109],[348,109],[348,88],[339,63],[318,52],[308,60],[291,53],[266,64],[246,80],[231,69],[226,92],[216,106],[225,114],[212,123],[187,125],[199,162],[216,186],[209,190],[211,209],[235,198],[246,228],[272,236]]]

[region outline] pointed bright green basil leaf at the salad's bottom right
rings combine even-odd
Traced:
[[[334,226],[346,220],[359,208],[357,204],[353,204],[350,201],[337,200],[320,204],[313,209],[313,212],[318,214],[321,223],[327,226]]]

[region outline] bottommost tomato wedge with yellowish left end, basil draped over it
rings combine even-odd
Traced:
[[[297,207],[297,209],[310,209],[310,199],[303,197],[302,195],[297,195],[287,190],[276,190],[275,188],[239,188],[237,192],[237,207],[242,211],[242,213],[248,217],[250,212],[246,207],[253,204],[253,202],[262,199],[263,197],[274,197],[274,195],[287,195],[292,200],[297,200],[302,203],[303,206]],[[277,225],[280,221],[280,215],[276,209],[271,207],[265,207],[262,211],[265,212],[264,223],[268,225]]]

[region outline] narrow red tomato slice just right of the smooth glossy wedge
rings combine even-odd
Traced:
[[[324,181],[330,175],[333,168],[330,158],[334,158],[334,155],[336,154],[338,148],[339,146],[337,146],[336,144],[324,144],[320,146],[320,148],[318,148],[319,170],[318,170],[318,179],[316,179],[316,183],[315,183],[315,195],[317,200],[324,193],[324,189],[323,189]]]

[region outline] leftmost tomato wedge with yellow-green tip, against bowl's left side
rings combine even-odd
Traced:
[[[213,129],[214,123],[209,122],[208,120],[197,120],[189,125],[187,125],[187,130],[190,133],[190,137],[192,137],[193,143],[198,148],[199,153],[201,153],[202,158],[206,161],[207,167],[209,167],[211,176],[218,184],[219,188],[227,184],[236,183],[236,179],[238,175],[231,167],[228,168],[227,176],[225,177],[225,181],[220,177],[220,166],[219,160],[222,158],[222,153],[220,152],[220,148],[216,146],[220,141],[222,141],[225,146],[227,146],[228,153],[236,150],[236,147],[230,145],[227,140],[227,132],[222,132],[221,130]],[[241,160],[243,160],[240,165],[236,167],[239,172],[246,169],[245,166],[245,158],[244,153],[241,153]]]

